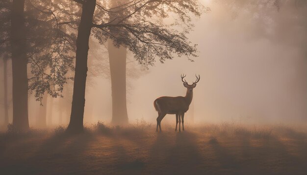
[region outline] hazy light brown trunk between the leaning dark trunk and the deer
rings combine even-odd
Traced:
[[[110,62],[111,90],[112,90],[112,124],[128,124],[126,102],[126,47],[115,47],[112,40],[108,40]]]

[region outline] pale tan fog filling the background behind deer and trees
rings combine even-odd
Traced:
[[[164,64],[156,61],[155,66],[149,66],[147,70],[133,62],[133,55],[128,53],[131,61],[127,63],[129,122],[140,118],[155,122],[157,112],[153,101],[160,96],[184,96],[186,88],[180,79],[184,73],[189,83],[196,80],[195,74],[201,76],[186,114],[187,123],[306,125],[307,20],[306,15],[302,17],[306,14],[306,4],[295,7],[287,1],[277,9],[241,1],[204,0],[203,3],[211,10],[201,18],[193,19],[194,31],[188,35],[193,44],[198,44],[199,57],[191,58],[194,62],[175,57]],[[94,51],[90,49],[90,55],[91,52]],[[102,57],[99,65],[108,67],[104,46],[98,55]],[[89,72],[95,72],[96,68],[97,65],[90,64]],[[85,125],[99,120],[111,121],[111,84],[107,71],[103,75],[89,73]],[[129,76],[131,72],[137,76]],[[1,71],[1,82],[2,75]],[[0,88],[3,91],[3,87]],[[51,102],[48,97],[47,103],[53,106],[47,109],[47,115],[52,115],[53,125],[59,122],[59,110],[64,111],[58,107],[61,100],[56,98]],[[64,94],[64,100],[71,104],[71,95]],[[34,98],[29,102],[29,123],[34,126],[40,103]],[[69,122],[70,105],[66,108],[62,124]],[[2,106],[0,110],[2,115]],[[11,111],[9,114],[11,121]],[[175,122],[175,117],[167,115],[164,120]]]

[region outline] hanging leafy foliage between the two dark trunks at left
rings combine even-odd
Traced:
[[[32,48],[28,53],[32,75],[29,89],[35,91],[37,100],[43,98],[44,92],[52,97],[62,97],[64,85],[72,79],[66,74],[74,70],[76,6],[66,3],[70,8],[62,8],[62,3],[54,2],[29,0],[26,3],[29,45]]]

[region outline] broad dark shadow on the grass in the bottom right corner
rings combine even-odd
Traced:
[[[296,134],[295,134],[296,135]],[[285,145],[290,144],[290,145]],[[240,131],[234,137],[210,138],[208,144],[214,152],[218,174],[304,174],[307,172],[307,150],[294,148],[292,142],[282,142],[272,134]],[[300,142],[305,147],[306,142]]]

